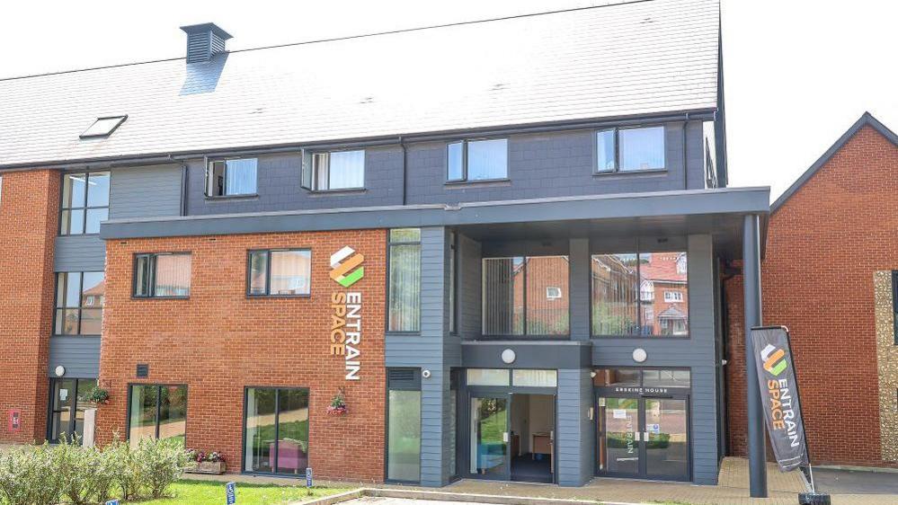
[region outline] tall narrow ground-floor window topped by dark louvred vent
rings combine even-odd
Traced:
[[[387,479],[391,481],[421,480],[420,377],[417,368],[387,371]]]

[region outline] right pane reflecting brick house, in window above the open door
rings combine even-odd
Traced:
[[[570,333],[567,256],[527,258],[527,334]]]

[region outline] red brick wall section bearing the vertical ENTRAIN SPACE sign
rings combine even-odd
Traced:
[[[316,476],[382,480],[386,244],[383,230],[108,242],[100,380],[111,403],[101,408],[99,438],[124,435],[129,384],[186,384],[187,445],[223,453],[238,472],[245,386],[308,387]],[[359,381],[345,380],[344,359],[329,350],[331,294],[346,290],[329,277],[330,256],[345,245],[365,256],[365,277],[349,289],[363,296]],[[284,247],[312,250],[311,297],[247,298],[247,250]],[[131,297],[135,253],[186,251],[189,299]],[[138,363],[149,365],[148,379],[136,378]],[[350,413],[328,416],[339,387]]]

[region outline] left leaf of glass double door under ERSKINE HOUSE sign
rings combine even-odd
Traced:
[[[609,474],[638,474],[639,400],[606,398],[605,406],[600,406],[600,420],[604,428],[600,438],[603,470]]]

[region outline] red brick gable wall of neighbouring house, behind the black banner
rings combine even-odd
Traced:
[[[896,175],[898,147],[863,128],[770,217],[763,322],[792,334],[814,463],[882,464],[873,272],[898,269]],[[726,288],[730,443],[742,455],[742,279]]]

